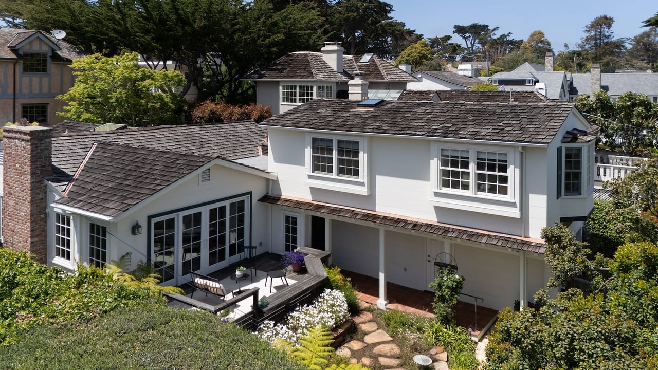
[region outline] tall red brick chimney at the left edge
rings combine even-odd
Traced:
[[[3,244],[47,262],[47,186],[51,129],[39,126],[3,128]]]

